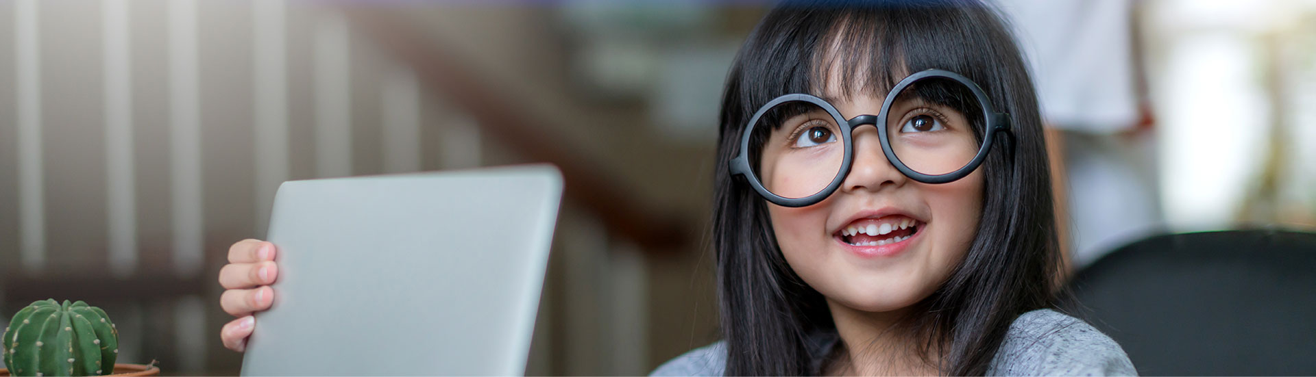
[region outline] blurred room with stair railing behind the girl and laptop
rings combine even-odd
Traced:
[[[1055,24],[1016,26],[1075,268],[1154,233],[1316,226],[1316,1],[1030,3],[1001,8]],[[717,339],[717,105],[766,8],[0,0],[0,321],[84,299],[121,360],[234,374],[216,278],[282,181],[553,162],[526,373],[646,374]]]

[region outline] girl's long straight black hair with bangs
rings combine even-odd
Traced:
[[[769,204],[728,173],[749,117],[780,95],[819,95],[830,74],[845,75],[845,93],[878,95],[926,68],[978,83],[1012,116],[1013,139],[980,167],[983,213],[963,260],[900,328],[921,355],[937,349],[941,373],[984,374],[1015,318],[1055,305],[1059,251],[1041,117],[1001,17],[978,1],[780,4],[736,56],[719,118],[713,247],[726,376],[820,373],[812,365],[825,355],[811,336],[836,331],[824,297],[782,256]]]

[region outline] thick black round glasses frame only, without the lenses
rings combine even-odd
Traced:
[[[969,164],[965,164],[959,169],[944,175],[920,173],[911,169],[908,166],[904,164],[904,162],[900,162],[900,158],[898,158],[895,151],[891,148],[891,141],[887,138],[887,127],[879,126],[887,123],[886,122],[888,116],[887,112],[891,109],[891,105],[899,96],[898,93],[904,91],[905,87],[909,87],[913,83],[926,79],[950,79],[959,81],[959,84],[963,84],[966,88],[969,88],[969,91],[974,93],[974,96],[978,97],[978,102],[982,104],[983,120],[986,120],[987,122],[987,125],[983,127],[984,129],[983,144],[982,147],[979,147],[978,155],[975,155],[974,159],[969,162]],[[863,125],[873,125],[875,129],[878,129],[878,137],[882,139],[882,152],[887,155],[887,160],[891,162],[891,166],[894,166],[898,171],[900,171],[900,173],[905,175],[907,177],[926,184],[950,183],[971,173],[987,158],[987,152],[991,151],[991,146],[996,138],[998,131],[1009,134],[1011,138],[1013,138],[1013,133],[1011,131],[1009,114],[998,113],[995,108],[992,108],[991,101],[987,99],[987,95],[983,92],[983,89],[979,88],[978,84],[975,84],[973,80],[969,80],[969,78],[961,76],[959,74],[945,70],[925,70],[901,79],[900,83],[896,83],[896,85],[891,88],[890,93],[891,95],[888,95],[887,99],[882,101],[882,112],[878,113],[878,116],[863,114],[850,118],[849,121],[841,117],[841,112],[837,112],[836,106],[832,106],[832,104],[828,104],[822,99],[809,95],[800,95],[800,93],[784,95],[769,101],[762,108],[759,108],[758,112],[754,113],[754,117],[749,120],[749,123],[745,125],[745,131],[744,134],[741,134],[740,154],[729,162],[732,176],[737,175],[745,176],[749,180],[749,184],[754,187],[754,190],[757,190],[758,194],[763,196],[763,198],[766,198],[772,204],[780,206],[807,206],[817,204],[825,200],[828,196],[832,196],[832,193],[841,187],[841,183],[845,181],[845,177],[850,175],[850,164],[854,162],[854,139],[850,138],[850,134],[854,133],[854,129]],[[790,101],[815,104],[819,108],[826,110],[828,114],[830,114],[832,118],[836,120],[837,125],[849,125],[840,127],[841,139],[845,141],[844,144],[845,159],[841,162],[841,169],[837,171],[836,177],[832,179],[832,183],[828,184],[826,188],[815,194],[800,198],[783,197],[767,190],[763,187],[763,183],[759,181],[758,176],[754,175],[754,169],[750,167],[750,160],[749,160],[749,139],[750,135],[753,134],[754,125],[757,125],[758,120],[763,117],[763,114],[766,114],[767,110],[772,109],[772,106]]]

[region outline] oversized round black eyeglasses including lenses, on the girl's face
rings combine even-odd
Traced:
[[[996,133],[1011,134],[1009,123],[1009,114],[995,112],[973,80],[926,70],[896,83],[878,116],[845,120],[830,102],[809,95],[769,101],[745,125],[730,172],[747,177],[772,204],[813,205],[850,173],[854,130],[873,125],[882,152],[900,173],[926,184],[950,183],[976,169]]]

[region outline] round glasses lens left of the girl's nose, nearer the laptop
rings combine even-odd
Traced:
[[[769,192],[801,198],[821,192],[841,171],[845,142],[836,118],[821,106],[788,101],[751,125],[749,158]]]

